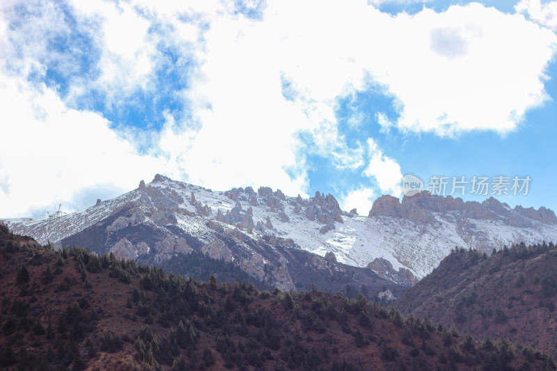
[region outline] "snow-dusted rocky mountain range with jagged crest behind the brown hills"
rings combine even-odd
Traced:
[[[149,256],[159,262],[201,250],[234,260],[254,276],[272,277],[283,288],[296,286],[289,260],[301,251],[312,253],[304,259],[315,267],[359,267],[409,285],[455,246],[489,253],[517,242],[557,242],[554,212],[511,209],[494,198],[464,203],[424,191],[400,203],[382,196],[368,216],[359,216],[343,212],[334,196],[319,192],[304,199],[269,187],[211,191],[162,175],[86,210],[4,222],[43,244],[89,246],[122,258]]]

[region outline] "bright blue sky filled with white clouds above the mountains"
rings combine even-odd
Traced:
[[[156,173],[557,210],[556,33],[557,1],[3,0],[0,217]]]

